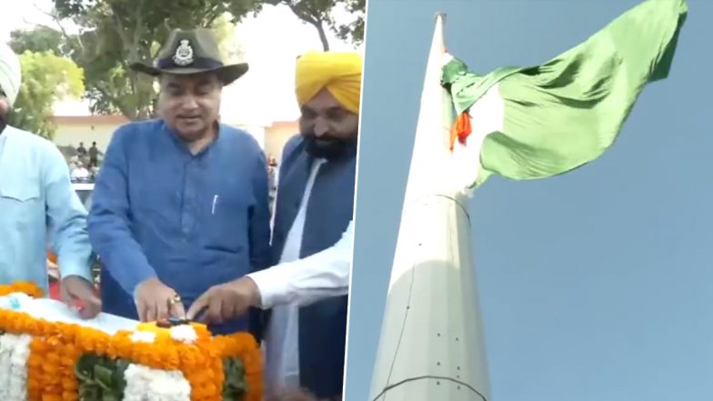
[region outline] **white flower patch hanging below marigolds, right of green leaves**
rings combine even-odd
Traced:
[[[124,401],[191,401],[191,386],[180,371],[131,364],[124,377]]]

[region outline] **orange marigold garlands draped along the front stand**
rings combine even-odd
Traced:
[[[0,286],[0,296],[22,292],[43,296],[33,283]],[[153,343],[134,342],[132,332],[114,336],[91,327],[47,322],[22,312],[0,309],[0,330],[33,336],[27,360],[27,395],[30,401],[76,401],[79,382],[74,366],[80,356],[95,354],[122,358],[161,370],[180,370],[191,385],[191,400],[222,400],[223,359],[239,357],[245,366],[247,392],[244,401],[263,397],[262,354],[253,336],[238,333],[211,337],[205,326],[194,326],[195,344],[170,336],[156,336]]]

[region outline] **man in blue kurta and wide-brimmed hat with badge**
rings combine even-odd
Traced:
[[[132,68],[159,78],[162,118],[119,127],[96,180],[89,235],[102,300],[118,316],[183,318],[211,286],[269,265],[266,158],[219,123],[222,88],[247,65],[224,65],[212,32],[176,30],[154,65]],[[209,328],[259,337],[253,317]]]

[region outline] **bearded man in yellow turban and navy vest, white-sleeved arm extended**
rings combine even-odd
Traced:
[[[188,317],[266,314],[266,388],[341,399],[362,57],[316,53],[296,63],[300,134],[283,150],[272,253],[275,266],[211,288]],[[275,396],[268,394],[268,396]]]

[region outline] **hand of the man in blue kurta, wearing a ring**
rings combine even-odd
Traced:
[[[146,279],[136,286],[135,296],[136,311],[142,322],[186,317],[186,311],[176,291],[156,277]]]

